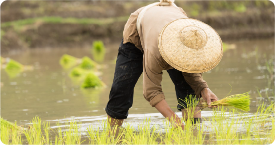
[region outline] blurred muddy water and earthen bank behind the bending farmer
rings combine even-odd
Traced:
[[[8,121],[20,121],[18,124],[27,123],[34,116],[52,122],[73,117],[86,123],[104,119],[124,25],[130,13],[157,1],[3,1],[0,5],[0,116]],[[212,26],[224,42],[221,63],[203,75],[218,98],[224,98],[231,90],[231,95],[251,91],[251,112],[256,112],[259,104],[274,101],[275,5],[272,1],[176,0],[175,3],[190,18]],[[94,51],[97,48],[100,54]],[[70,61],[68,66],[64,64]],[[91,66],[96,63],[96,69],[90,71],[106,87],[82,87],[85,76],[78,76],[87,73],[81,68],[83,62]],[[166,71],[162,84],[166,100],[177,112],[175,89]],[[142,120],[144,114],[155,116],[156,121],[161,118],[160,114],[152,114],[158,112],[143,98],[142,77],[134,96],[130,121],[131,118],[138,121],[137,117]]]

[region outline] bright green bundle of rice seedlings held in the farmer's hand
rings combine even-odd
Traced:
[[[250,92],[244,93],[244,94],[236,94],[232,96],[228,96],[224,99],[211,102],[211,106],[224,106],[230,109],[235,109],[239,112],[248,112],[250,111]],[[200,100],[199,107],[201,109],[205,109],[208,107],[206,100]]]

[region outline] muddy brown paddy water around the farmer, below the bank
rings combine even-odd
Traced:
[[[204,73],[210,89],[222,99],[232,89],[231,94],[252,92],[251,113],[256,112],[257,106],[268,102],[266,90],[271,100],[274,83],[266,78],[268,75],[265,59],[275,56],[275,39],[229,42],[236,45],[235,49],[224,52],[221,63],[213,70]],[[86,125],[102,120],[106,117],[105,105],[109,98],[109,91],[114,75],[114,59],[118,53],[119,43],[108,45],[106,59],[101,70],[102,80],[107,88],[102,90],[79,87],[79,83],[68,77],[69,70],[59,65],[63,54],[75,57],[89,56],[89,49],[33,49],[28,52],[10,54],[9,56],[24,65],[33,65],[34,70],[20,73],[10,78],[6,72],[0,70],[0,116],[7,121],[17,121],[18,124],[28,123],[33,117],[39,116],[42,121],[63,121],[75,118]],[[231,84],[231,86],[229,85]],[[269,85],[271,84],[271,85]],[[177,106],[173,83],[164,71],[163,91],[171,107]],[[257,93],[260,88],[263,98]],[[266,89],[269,88],[269,89]],[[177,109],[173,109],[178,112]],[[128,121],[140,121],[144,116],[152,116],[157,122],[161,115],[152,108],[142,95],[142,77],[134,91],[134,104],[129,111]],[[180,115],[180,112],[178,112]],[[205,110],[203,116],[211,115]],[[135,120],[134,120],[135,119]],[[161,122],[162,123],[162,122]]]

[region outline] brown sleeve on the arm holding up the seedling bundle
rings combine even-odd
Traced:
[[[203,80],[201,73],[182,73],[185,81],[191,86],[195,91],[197,98],[201,97],[201,92],[204,88],[208,88],[206,81]]]

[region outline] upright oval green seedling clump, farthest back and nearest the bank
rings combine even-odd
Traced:
[[[94,41],[92,49],[93,58],[97,62],[102,62],[105,56],[105,46],[102,41]]]

